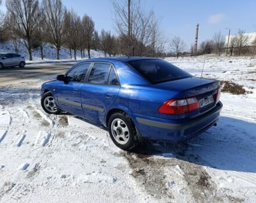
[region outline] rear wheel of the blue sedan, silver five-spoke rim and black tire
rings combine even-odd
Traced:
[[[131,150],[138,144],[136,128],[126,113],[113,113],[108,120],[108,132],[115,145],[122,150]]]

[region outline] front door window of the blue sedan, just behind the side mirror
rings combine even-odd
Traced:
[[[69,73],[67,73],[67,81],[72,82],[83,82],[86,78],[86,73],[90,67],[91,63],[83,63],[74,67]]]

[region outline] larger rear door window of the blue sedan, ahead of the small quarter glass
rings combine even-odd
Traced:
[[[102,85],[108,84],[108,74],[110,67],[111,64],[108,63],[94,63],[88,82]]]

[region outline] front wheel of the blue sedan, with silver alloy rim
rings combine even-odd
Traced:
[[[54,97],[51,92],[45,92],[41,98],[42,109],[48,114],[60,114],[61,110],[55,103]]]

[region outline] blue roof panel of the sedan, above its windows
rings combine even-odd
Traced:
[[[146,59],[155,59],[152,57],[140,57],[140,56],[124,56],[124,57],[98,57],[93,59],[87,59],[84,61],[106,61],[106,62],[114,62],[114,61],[135,61],[135,60],[146,60]]]

